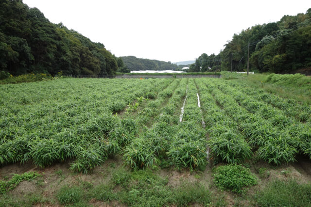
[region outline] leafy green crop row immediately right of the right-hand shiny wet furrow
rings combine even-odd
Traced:
[[[196,80],[208,132],[210,159],[214,162],[241,163],[253,155],[251,147],[238,130],[238,124],[221,109],[202,79]]]

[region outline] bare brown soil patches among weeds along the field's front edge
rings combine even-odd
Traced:
[[[64,185],[80,185],[82,182],[88,182],[93,186],[98,184],[108,183],[114,171],[123,165],[122,157],[116,156],[113,159],[106,160],[102,166],[98,166],[90,174],[76,174],[69,170],[69,163],[67,161],[64,163],[54,164],[45,169],[39,169],[35,167],[31,162],[20,164],[10,164],[0,168],[0,179],[3,180],[4,177],[11,178],[12,174],[22,174],[30,171],[37,171],[42,175],[42,177],[37,177],[32,181],[22,181],[19,185],[12,191],[8,192],[9,196],[12,197],[23,197],[27,194],[39,194],[44,198],[49,200],[47,203],[36,204],[36,207],[58,207],[61,206],[57,199],[56,193]],[[218,164],[220,165],[220,164]],[[212,166],[207,166],[205,171],[193,171],[181,170],[177,171],[173,168],[171,169],[160,169],[154,171],[155,174],[161,177],[168,177],[168,185],[173,188],[182,185],[184,182],[200,182],[205,185],[212,193],[213,203],[215,202],[225,202],[226,206],[252,206],[256,205],[251,203],[250,197],[254,196],[258,191],[265,188],[265,186],[275,180],[288,180],[294,178],[300,183],[311,183],[311,160],[305,157],[299,157],[298,162],[290,163],[287,165],[273,166],[265,162],[257,162],[255,164],[249,163],[249,167],[257,177],[258,185],[250,187],[245,195],[241,196],[228,191],[220,191],[213,184],[212,176]],[[266,168],[269,172],[269,176],[262,178],[260,177],[258,171],[260,168]],[[124,206],[118,201],[106,203],[103,201],[98,201],[96,199],[91,199],[89,205],[96,207],[110,207],[110,206]],[[200,206],[193,204],[192,206]]]

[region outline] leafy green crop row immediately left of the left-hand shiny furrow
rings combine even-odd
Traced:
[[[162,100],[157,102],[154,110],[150,109],[148,111],[153,111],[150,114],[157,114],[155,119],[155,124],[148,128],[144,127],[140,133],[131,140],[129,143],[124,144],[124,155],[123,159],[125,163],[132,168],[145,168],[152,166],[155,163],[159,162],[157,158],[160,154],[163,154],[166,151],[166,146],[169,140],[169,137],[172,133],[172,127],[170,122],[173,122],[173,114],[168,115],[167,112],[172,105],[175,105],[182,99],[186,92],[187,80],[182,79],[177,87],[171,90],[163,91],[160,93],[160,97],[157,97],[155,101]],[[168,97],[169,100],[165,107],[161,107],[161,104],[164,104],[164,97]],[[152,104],[154,106],[154,104]],[[158,108],[160,108],[158,110]],[[145,111],[143,109],[142,111]],[[149,113],[138,113],[137,122],[141,125],[146,123],[150,119]]]

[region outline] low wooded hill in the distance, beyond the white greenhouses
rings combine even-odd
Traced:
[[[124,65],[132,70],[176,70],[177,65],[171,62],[158,61],[137,58],[135,56],[124,56],[121,57]]]

